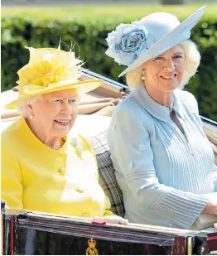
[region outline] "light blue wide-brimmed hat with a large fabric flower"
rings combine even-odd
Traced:
[[[106,38],[109,48],[105,52],[119,65],[128,65],[118,77],[189,39],[204,11],[205,6],[200,7],[184,22],[171,13],[154,12],[141,21],[118,25]]]

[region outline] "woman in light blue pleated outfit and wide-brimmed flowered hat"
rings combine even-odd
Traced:
[[[195,97],[183,91],[200,64],[189,40],[201,7],[184,22],[165,12],[121,24],[106,54],[128,65],[133,91],[113,112],[109,147],[129,221],[190,229],[201,213],[217,215],[214,152]]]

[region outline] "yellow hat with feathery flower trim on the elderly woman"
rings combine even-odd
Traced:
[[[73,88],[84,94],[103,84],[103,80],[80,80],[82,61],[75,58],[73,51],[25,48],[30,51],[30,60],[17,71],[19,97],[7,104],[7,109],[17,109],[18,101],[30,96]]]

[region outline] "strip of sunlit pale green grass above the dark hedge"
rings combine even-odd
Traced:
[[[162,6],[159,4],[112,4],[74,7],[2,7],[2,17],[27,17],[35,22],[63,21],[120,21],[141,19],[152,12],[171,12],[181,20],[195,12],[202,3],[181,6]],[[206,17],[216,17],[217,3],[209,3],[205,8]]]

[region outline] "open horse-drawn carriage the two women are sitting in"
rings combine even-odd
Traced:
[[[84,95],[81,102],[102,103],[108,97],[110,100],[128,94],[128,88],[124,85],[93,72],[83,71],[84,78],[102,78],[104,85]],[[17,92],[13,90],[2,93],[2,106],[16,97]],[[124,216],[123,196],[114,176],[107,143],[111,110],[79,115],[75,129],[80,130],[94,148],[99,165],[99,183],[109,196],[111,210]],[[16,118],[16,114],[2,108],[2,129]],[[201,119],[217,161],[217,123],[207,118]],[[130,223],[112,225],[96,223],[88,217],[75,218],[28,210],[9,210],[4,202],[1,208],[2,254],[217,254],[217,233],[199,230],[204,229],[207,223],[204,226],[199,223],[198,230]]]

